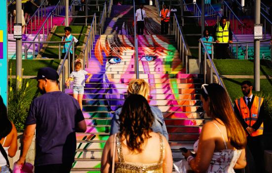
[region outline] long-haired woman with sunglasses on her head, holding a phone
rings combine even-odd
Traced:
[[[226,90],[203,84],[201,101],[212,121],[205,123],[194,144],[194,157],[183,153],[195,173],[234,173],[246,166],[246,134],[236,118]]]

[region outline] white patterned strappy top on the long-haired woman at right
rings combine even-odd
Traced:
[[[221,133],[224,141],[225,150],[214,151],[210,166],[206,173],[235,173],[233,167],[239,159],[242,150],[231,150],[228,149],[225,138],[219,129],[219,127],[212,122]],[[197,152],[198,140],[194,143],[194,152]]]

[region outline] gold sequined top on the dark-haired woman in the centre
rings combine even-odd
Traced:
[[[162,134],[159,134],[160,141],[160,156],[157,163],[153,164],[136,164],[125,162],[124,155],[122,151],[122,145],[120,142],[120,136],[116,136],[116,146],[117,146],[117,155],[118,162],[115,162],[115,173],[163,173],[162,172],[162,157],[164,155],[164,143],[162,140]]]

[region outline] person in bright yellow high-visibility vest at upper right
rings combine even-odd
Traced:
[[[217,22],[214,26],[215,53],[217,59],[230,58],[230,52],[228,50],[229,43],[233,43],[233,32],[230,22],[227,21],[225,16],[222,16],[220,22]]]

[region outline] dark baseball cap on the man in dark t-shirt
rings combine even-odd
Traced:
[[[37,77],[30,79],[49,79],[57,81],[59,79],[59,75],[55,69],[52,69],[51,67],[43,67],[39,69]]]

